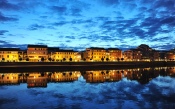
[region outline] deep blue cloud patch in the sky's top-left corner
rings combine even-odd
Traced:
[[[20,7],[16,4],[9,3],[7,0],[0,1],[0,9],[3,10],[19,10]]]

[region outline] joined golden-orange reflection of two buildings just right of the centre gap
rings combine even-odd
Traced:
[[[122,79],[122,73],[117,70],[86,71],[83,76],[86,82],[90,83],[119,81]]]

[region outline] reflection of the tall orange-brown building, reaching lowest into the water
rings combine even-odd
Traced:
[[[27,77],[27,87],[47,87],[47,77],[40,73],[32,73]]]

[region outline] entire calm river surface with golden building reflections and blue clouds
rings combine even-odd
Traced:
[[[174,109],[175,67],[0,73],[0,109]]]

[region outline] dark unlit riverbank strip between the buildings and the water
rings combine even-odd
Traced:
[[[0,72],[113,70],[124,68],[175,66],[175,61],[154,62],[0,62]]]

